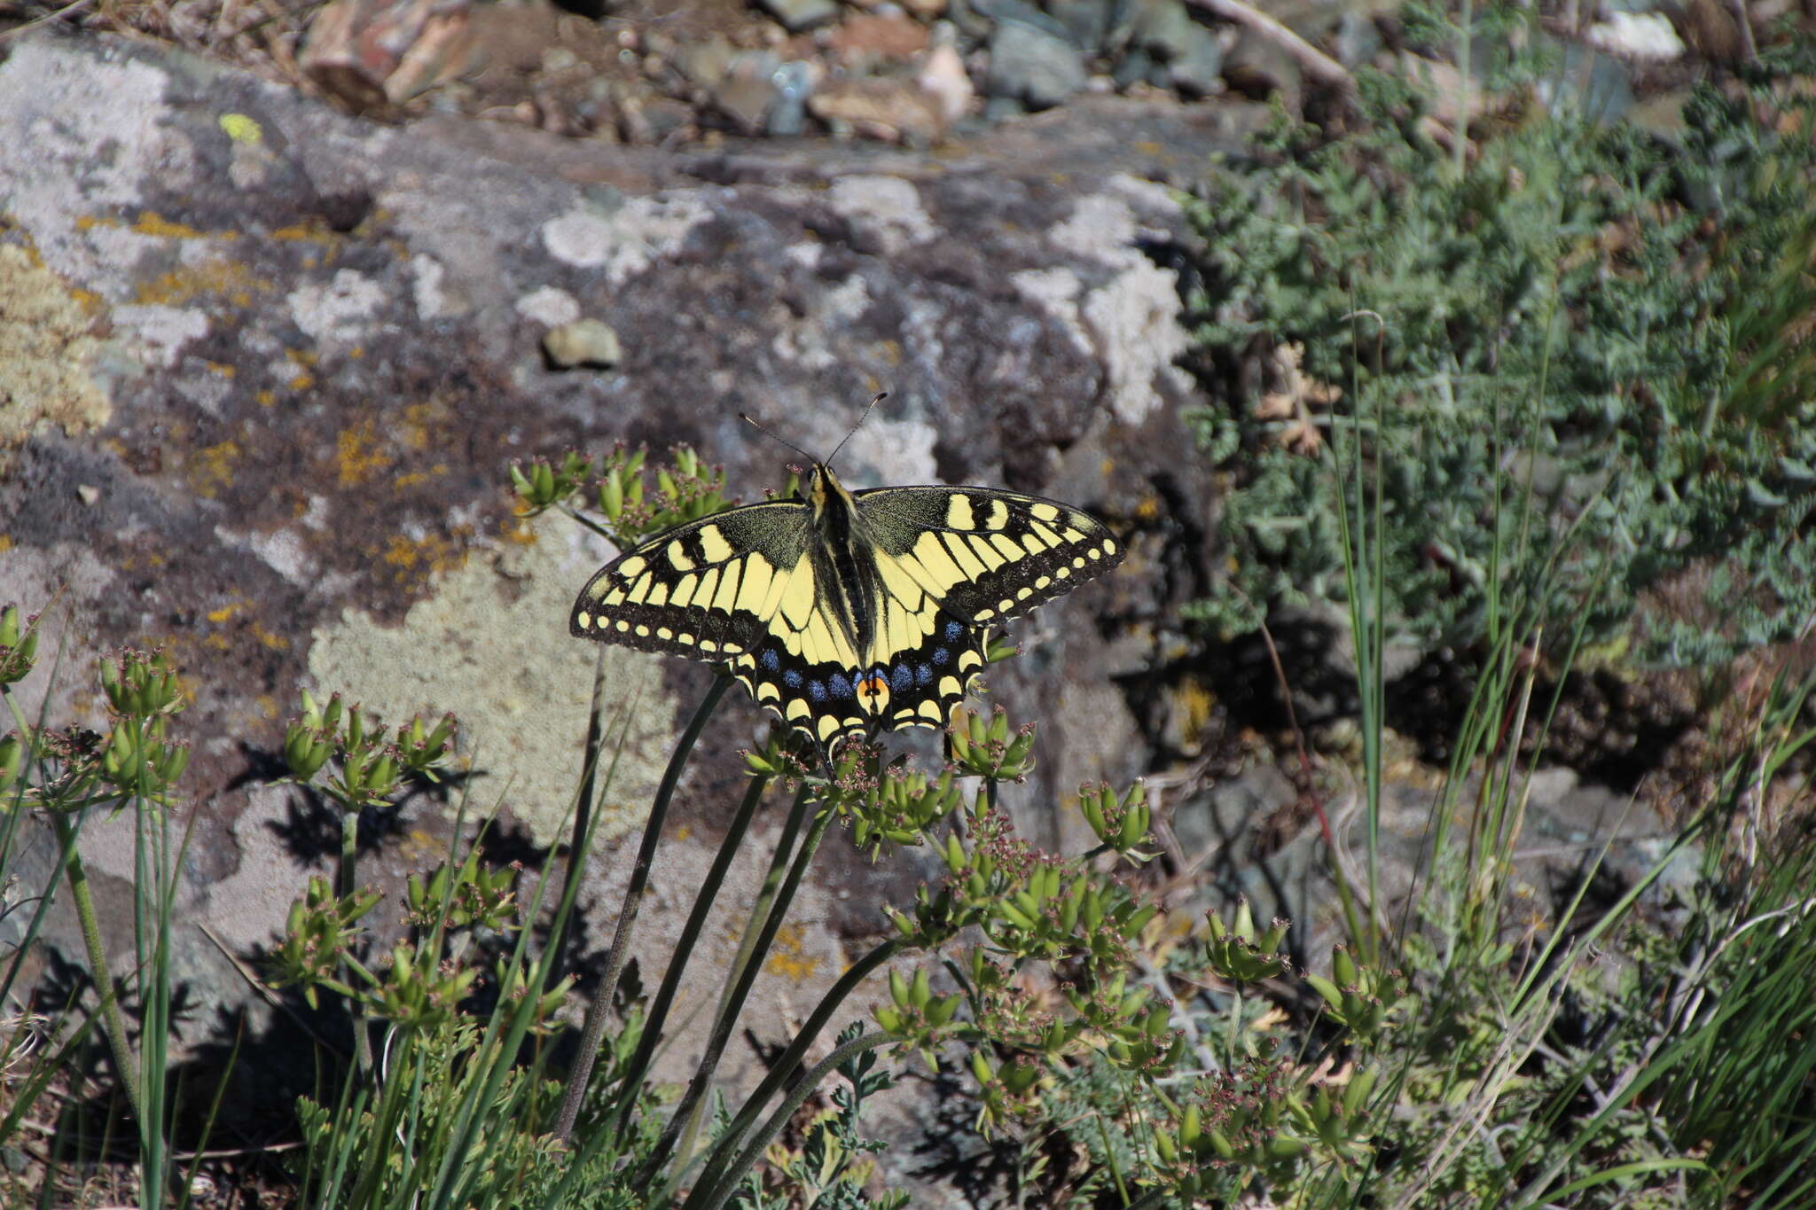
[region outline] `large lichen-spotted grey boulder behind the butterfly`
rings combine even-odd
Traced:
[[[94,655],[118,644],[162,644],[196,689],[174,724],[196,740],[178,903],[196,1021],[251,1000],[227,954],[271,943],[329,862],[332,820],[269,786],[300,686],[392,718],[458,711],[474,802],[501,804],[532,858],[559,834],[594,668],[567,610],[608,550],[559,519],[519,526],[514,459],[688,441],[754,499],[794,455],[739,410],[823,452],[888,388],[841,454],[854,486],[1046,492],[1131,539],[1113,579],[1017,626],[1024,657],[992,669],[992,697],[1042,720],[1037,776],[1006,795],[1022,829],[1070,844],[1077,784],[1146,767],[1106,640],[1193,591],[1180,570],[1206,553],[1168,535],[1204,532],[1179,510],[1208,488],[1180,457],[1177,283],[1137,247],[1180,218],[1144,178],[1184,183],[1229,151],[1219,114],[1106,98],[939,158],[670,154],[461,118],[370,125],[145,44],[44,33],[4,49],[0,298],[35,316],[11,323],[29,339],[5,345],[22,350],[9,381],[38,386],[0,424],[0,602],[56,602],[44,649],[67,639],[71,660],[54,688],[49,660],[20,688],[51,693],[53,722],[102,722]],[[552,368],[543,336],[583,317],[623,356]],[[1180,503],[1173,519],[1131,521],[1157,499]],[[612,693],[641,702],[610,842],[639,825],[708,673],[628,651],[607,666]],[[646,971],[732,807],[735,751],[765,727],[734,697],[677,798],[690,834],[656,873]],[[903,746],[924,756],[935,737]],[[116,907],[129,827],[96,818],[82,842]],[[374,844],[367,869],[396,885],[447,851],[450,824],[412,804]],[[54,853],[36,853],[47,873]],[[596,867],[592,947],[623,862]],[[759,987],[766,1039],[881,927],[872,878],[828,864],[810,889],[797,961]],[[864,911],[839,916],[841,893]],[[131,912],[107,918],[125,963]],[[49,936],[78,952],[67,918]]]

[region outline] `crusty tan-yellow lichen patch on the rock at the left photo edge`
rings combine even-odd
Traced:
[[[40,421],[76,435],[113,414],[89,377],[89,314],[62,278],[16,245],[0,247],[0,472]]]

